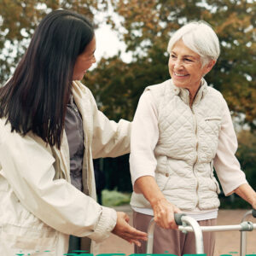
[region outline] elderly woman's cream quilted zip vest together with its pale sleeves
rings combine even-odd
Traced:
[[[213,164],[225,193],[247,183],[239,164],[233,169],[233,163],[237,162],[236,147],[233,147],[236,136],[233,137],[234,129],[223,96],[208,87],[204,79],[192,108],[189,107],[189,91],[177,88],[172,80],[149,86],[147,92],[155,108],[144,108],[142,113],[140,105],[143,102],[139,102],[131,134],[132,182],[135,183],[138,177],[152,175],[166,199],[180,209],[216,209],[219,189],[213,176]],[[141,119],[147,120],[147,126]],[[141,134],[137,130],[142,130]],[[225,134],[226,130],[229,134]],[[154,166],[152,160],[149,166],[148,159],[153,158],[156,164]],[[225,165],[219,163],[224,158],[227,159]],[[131,206],[150,208],[144,196],[135,192]]]

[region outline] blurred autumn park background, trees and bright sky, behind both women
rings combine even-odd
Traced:
[[[166,47],[172,32],[191,20],[211,24],[221,55],[207,74],[207,83],[228,102],[239,142],[236,156],[256,189],[255,0],[0,0],[1,85],[14,72],[38,22],[60,8],[94,22],[97,61],[83,83],[92,90],[102,112],[116,121],[133,119],[146,86],[170,79]],[[129,203],[129,154],[95,160],[95,167],[99,201],[102,195],[106,206]],[[220,199],[224,208],[249,207],[236,195],[222,193]]]

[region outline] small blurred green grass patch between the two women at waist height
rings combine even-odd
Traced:
[[[104,189],[102,191],[102,206],[117,207],[130,203],[131,193],[120,193],[116,190],[109,191]]]

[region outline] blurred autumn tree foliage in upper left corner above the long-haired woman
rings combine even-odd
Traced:
[[[9,79],[25,53],[32,34],[53,9],[72,9],[93,20],[96,10],[107,8],[106,0],[0,0],[0,84]]]

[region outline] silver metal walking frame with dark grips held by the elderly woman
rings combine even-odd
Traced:
[[[241,231],[240,241],[240,256],[245,256],[247,253],[247,231],[256,230],[256,224],[251,221],[246,221],[247,216],[253,215],[256,218],[256,210],[250,210],[246,212],[241,219],[240,224],[235,225],[217,225],[217,226],[200,226],[195,218],[189,217],[183,213],[175,213],[174,218],[178,226],[178,230],[183,233],[194,232],[195,233],[195,251],[196,254],[204,254],[203,236],[202,232],[217,232],[217,231],[230,231],[239,230]],[[154,241],[154,218],[148,224],[148,243],[147,243],[147,254],[153,253],[153,241]]]

